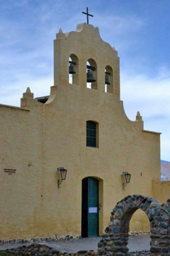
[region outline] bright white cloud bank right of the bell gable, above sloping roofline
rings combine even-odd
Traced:
[[[162,67],[160,68],[162,70]],[[121,99],[128,118],[135,120],[137,111],[144,121],[144,129],[162,132],[161,158],[170,160],[170,77],[159,72],[156,77],[121,73]]]

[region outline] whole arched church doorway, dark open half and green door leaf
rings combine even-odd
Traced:
[[[82,237],[99,235],[99,181],[94,177],[82,180]]]

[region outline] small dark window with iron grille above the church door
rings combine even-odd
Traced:
[[[96,147],[96,123],[92,121],[86,122],[86,146]]]

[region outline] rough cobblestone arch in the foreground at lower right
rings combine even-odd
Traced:
[[[99,255],[124,256],[128,253],[129,223],[133,213],[141,209],[147,214],[150,221],[151,253],[169,256],[170,214],[167,209],[169,209],[170,199],[166,203],[161,205],[158,200],[142,195],[124,197],[111,212],[108,227],[102,235],[102,240],[98,243]]]

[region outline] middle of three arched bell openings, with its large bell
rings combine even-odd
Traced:
[[[97,90],[97,64],[94,59],[87,60],[87,88]]]

